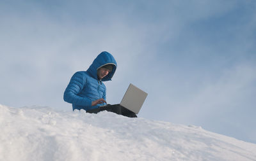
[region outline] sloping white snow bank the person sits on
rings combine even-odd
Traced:
[[[0,105],[0,160],[256,160],[256,144],[103,111]]]

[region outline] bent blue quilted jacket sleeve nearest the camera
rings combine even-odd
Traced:
[[[63,99],[64,101],[76,104],[78,106],[85,106],[85,107],[91,107],[92,101],[86,97],[81,97],[78,94],[81,92],[81,90],[84,88],[84,85],[86,85],[87,76],[82,73],[75,73],[70,82],[68,83],[68,86],[64,92]]]

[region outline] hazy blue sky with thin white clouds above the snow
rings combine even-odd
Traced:
[[[129,83],[139,117],[256,143],[255,1],[1,1],[0,104],[71,111],[63,92],[102,51],[117,62],[107,102]]]

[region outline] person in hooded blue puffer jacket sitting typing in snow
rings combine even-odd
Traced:
[[[111,111],[120,115],[137,117],[135,113],[120,105],[105,106],[106,86],[103,81],[111,81],[116,71],[116,60],[109,52],[101,52],[87,71],[77,71],[67,88],[63,99],[72,104],[75,109],[84,109],[87,113],[99,113],[100,111]]]

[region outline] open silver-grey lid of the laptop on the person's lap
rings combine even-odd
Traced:
[[[146,92],[130,83],[120,105],[138,114],[147,95],[148,94]]]

